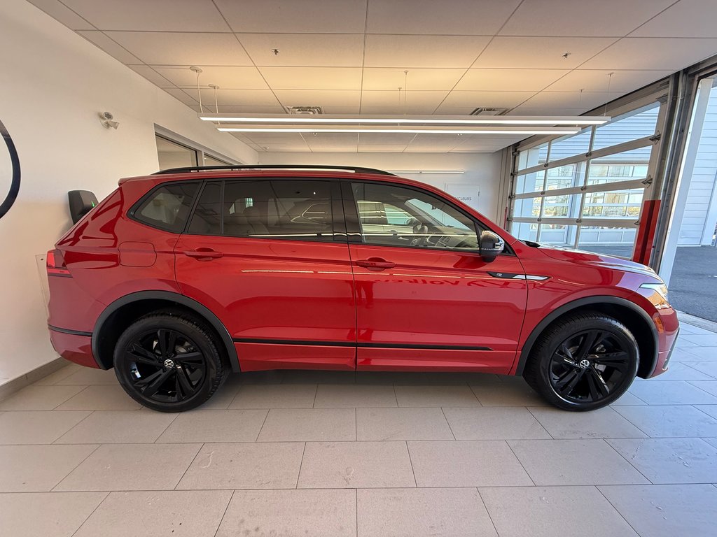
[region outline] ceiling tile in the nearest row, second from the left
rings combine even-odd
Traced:
[[[62,0],[100,30],[230,32],[212,0]]]

